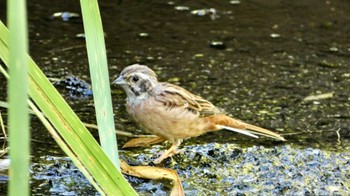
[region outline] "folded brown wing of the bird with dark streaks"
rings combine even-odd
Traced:
[[[189,91],[179,86],[162,82],[160,83],[161,90],[156,96],[156,100],[162,102],[167,107],[183,107],[193,113],[198,114],[200,117],[212,116],[221,113],[209,101],[194,95]]]

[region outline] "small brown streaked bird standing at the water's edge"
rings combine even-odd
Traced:
[[[272,131],[226,116],[209,101],[179,86],[158,82],[157,75],[147,66],[130,65],[113,83],[125,90],[126,109],[136,123],[172,143],[155,164],[178,153],[183,139],[209,131],[227,129],[254,138],[263,135],[285,141]]]

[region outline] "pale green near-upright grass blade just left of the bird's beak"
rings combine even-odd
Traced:
[[[120,169],[104,33],[97,0],[80,1],[102,149]]]

